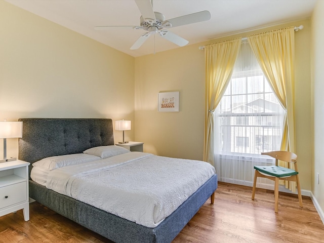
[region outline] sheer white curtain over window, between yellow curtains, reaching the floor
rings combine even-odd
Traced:
[[[215,169],[219,181],[252,186],[254,166],[270,166],[261,152],[279,150],[284,109],[249,43],[242,43],[227,89],[214,112]],[[262,188],[273,182],[258,178]]]

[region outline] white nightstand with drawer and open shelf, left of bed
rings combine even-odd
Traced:
[[[29,220],[29,165],[22,160],[0,163],[0,216],[22,209]]]

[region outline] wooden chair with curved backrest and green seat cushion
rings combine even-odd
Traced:
[[[278,213],[279,180],[295,181],[297,183],[299,207],[303,207],[302,195],[297,169],[297,155],[288,151],[272,151],[261,153],[275,158],[275,166],[255,166],[254,183],[252,190],[252,200],[254,200],[257,177],[268,178],[274,181],[274,212]],[[278,160],[293,163],[295,170],[278,166]]]

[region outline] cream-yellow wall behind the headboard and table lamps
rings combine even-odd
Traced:
[[[0,30],[0,120],[134,121],[133,57],[5,1],[0,1]],[[115,135],[122,139],[121,132]],[[134,129],[126,137],[133,140]],[[8,157],[17,156],[17,141],[7,140]]]

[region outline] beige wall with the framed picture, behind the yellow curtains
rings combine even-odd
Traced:
[[[301,24],[304,29],[295,34],[296,153],[302,188],[310,190],[310,20],[214,39],[208,43]],[[203,159],[205,54],[198,47],[204,44],[207,43],[135,59],[135,139],[145,142],[146,152]],[[157,111],[160,91],[180,91],[180,112]]]

